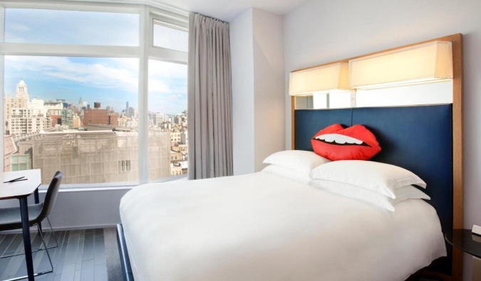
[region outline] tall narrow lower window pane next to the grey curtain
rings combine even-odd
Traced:
[[[149,179],[187,174],[187,65],[149,60],[148,99]]]

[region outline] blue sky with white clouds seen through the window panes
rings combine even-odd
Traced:
[[[5,30],[5,41],[12,43],[138,46],[137,14],[6,9]],[[172,40],[182,42],[179,36]],[[129,102],[138,110],[138,63],[138,58],[6,55],[4,92],[14,95],[23,77],[31,98],[78,105],[82,97],[91,107],[100,102],[117,112]],[[149,60],[148,104],[150,112],[187,110],[187,65]]]

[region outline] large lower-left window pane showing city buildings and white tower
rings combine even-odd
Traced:
[[[124,108],[129,100],[137,108],[137,58],[7,55],[4,68],[4,132],[19,138],[11,157],[28,155],[27,165],[41,169],[44,184],[58,170],[65,171],[65,184],[120,181],[116,162],[138,155],[137,117]],[[18,100],[23,106],[14,107]],[[106,107],[115,120],[109,121]],[[138,161],[132,170],[123,161],[121,171],[130,172],[123,179],[138,181]]]

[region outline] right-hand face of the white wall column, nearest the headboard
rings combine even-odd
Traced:
[[[284,18],[252,9],[254,32],[254,166],[284,150]]]

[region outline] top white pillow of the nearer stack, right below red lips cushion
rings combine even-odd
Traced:
[[[426,183],[412,172],[398,166],[373,161],[342,160],[318,166],[311,171],[312,179],[338,181],[363,187],[395,198],[394,191],[402,186]]]

